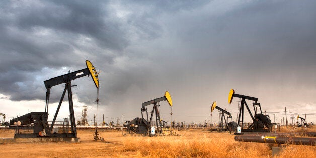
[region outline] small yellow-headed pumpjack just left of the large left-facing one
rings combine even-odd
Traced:
[[[223,125],[224,121],[225,121],[226,130],[234,130],[236,128],[235,122],[231,121],[231,122],[227,123],[228,119],[232,119],[230,112],[218,107],[216,101],[213,102],[213,104],[211,106],[211,113],[214,111],[215,108],[221,112],[221,116],[220,116],[221,119],[220,119],[220,123],[219,123],[219,132],[224,130],[224,125]],[[227,121],[226,121],[225,114],[228,115]]]

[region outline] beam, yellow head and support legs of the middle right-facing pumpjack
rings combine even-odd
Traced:
[[[143,118],[143,113],[142,112],[146,111],[147,122],[148,122],[148,125],[147,125],[148,129],[151,128],[151,122],[152,122],[152,118],[153,118],[153,113],[155,113],[157,130],[158,130],[158,132],[161,132],[160,127],[162,126],[161,125],[162,123],[161,123],[161,120],[160,120],[160,114],[159,114],[159,108],[158,108],[158,106],[160,106],[160,105],[158,105],[158,102],[164,101],[164,100],[167,100],[168,104],[172,108],[172,99],[171,99],[171,96],[170,96],[168,91],[165,92],[165,95],[163,97],[156,98],[156,99],[153,99],[153,100],[150,100],[150,101],[142,103],[142,108],[140,109],[140,111],[141,111],[141,118]],[[145,107],[148,106],[148,105],[151,105],[151,104],[153,104],[153,109],[152,109],[152,112],[151,112],[150,120],[148,120],[148,110]]]

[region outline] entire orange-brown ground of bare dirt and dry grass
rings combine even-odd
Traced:
[[[281,132],[301,131],[281,128]],[[309,129],[316,131],[316,128]],[[1,157],[272,157],[271,144],[236,142],[229,133],[177,131],[180,136],[131,136],[120,130],[100,130],[105,141],[94,141],[93,130],[78,130],[81,142],[0,144]],[[0,138],[13,137],[0,130]],[[288,145],[280,157],[316,157],[316,146]]]

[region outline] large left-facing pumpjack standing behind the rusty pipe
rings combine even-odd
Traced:
[[[228,103],[231,104],[233,97],[241,98],[240,109],[238,113],[238,126],[241,127],[241,132],[271,132],[272,130],[272,123],[271,120],[268,118],[269,115],[262,114],[261,105],[258,103],[258,98],[235,94],[234,89],[231,89],[228,95]],[[253,107],[255,111],[255,115],[253,116],[247,103],[247,100],[254,101]],[[253,123],[247,128],[244,129],[244,107],[247,108],[248,113],[251,116]],[[260,111],[256,107],[259,107]]]

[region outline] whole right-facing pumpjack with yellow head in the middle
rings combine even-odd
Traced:
[[[165,95],[160,98],[156,98],[147,102],[144,102],[142,104],[142,108],[140,109],[141,111],[141,118],[136,117],[134,120],[128,123],[127,129],[128,132],[132,131],[134,133],[138,134],[149,134],[149,131],[151,130],[151,124],[152,124],[152,119],[153,119],[153,114],[155,113],[156,117],[156,133],[162,133],[162,120],[160,119],[160,114],[159,114],[159,102],[167,100],[168,104],[171,107],[171,115],[172,115],[172,99],[168,91],[165,92]],[[146,106],[153,104],[153,109],[151,112],[150,119],[148,117],[148,110]],[[146,112],[147,119],[143,117],[143,112]]]

